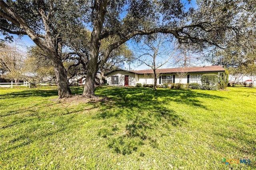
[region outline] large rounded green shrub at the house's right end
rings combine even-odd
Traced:
[[[203,74],[201,77],[202,89],[215,90],[217,89],[218,75],[216,74]]]

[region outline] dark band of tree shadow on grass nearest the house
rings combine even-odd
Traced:
[[[199,99],[228,99],[218,95],[210,95],[191,90],[170,90],[159,89],[154,91],[148,88],[104,88],[97,90],[98,96],[108,96],[113,99],[115,105],[123,108],[140,108],[146,109],[151,105],[161,105],[170,102],[185,104],[191,107],[200,107],[207,109]]]

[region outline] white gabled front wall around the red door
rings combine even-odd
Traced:
[[[136,86],[136,75],[135,73],[129,73],[126,71],[115,71],[107,75],[107,83],[108,85],[111,84],[111,76],[118,76],[118,85],[116,86],[124,86],[124,76],[129,76],[129,86]]]

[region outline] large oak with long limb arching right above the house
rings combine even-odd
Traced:
[[[190,2],[190,1],[188,1]],[[251,1],[197,1],[196,8],[185,8],[186,1],[159,0],[92,0],[90,20],[93,30],[84,97],[94,96],[94,79],[98,68],[121,44],[142,35],[169,34],[179,43],[192,45],[196,51],[224,48],[227,36],[238,36],[240,12],[250,8]],[[234,22],[236,21],[236,22]],[[228,32],[227,32],[228,30]],[[116,41],[99,53],[100,42],[115,36]]]

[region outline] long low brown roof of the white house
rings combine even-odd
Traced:
[[[114,71],[126,71],[130,73],[136,73],[136,74],[152,74],[153,70],[123,70],[123,69],[116,69]],[[114,71],[111,71],[110,73],[113,73]],[[157,69],[158,73],[179,73],[179,72],[223,72],[225,69],[221,65],[215,65],[215,66],[204,66],[204,67],[183,67],[183,68],[170,68],[170,69]],[[110,74],[110,73],[107,73]]]

